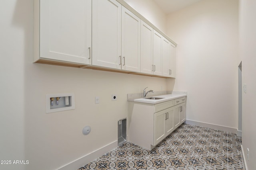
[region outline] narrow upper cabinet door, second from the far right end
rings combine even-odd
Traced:
[[[162,39],[163,76],[170,76],[170,41]]]

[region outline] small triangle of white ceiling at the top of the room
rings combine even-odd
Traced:
[[[154,0],[166,14],[190,6],[200,0]]]

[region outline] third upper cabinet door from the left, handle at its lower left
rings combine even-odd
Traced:
[[[122,70],[140,72],[140,18],[122,6]]]

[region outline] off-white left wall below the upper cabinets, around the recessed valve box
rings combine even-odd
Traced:
[[[117,122],[128,114],[128,93],[146,86],[167,89],[165,78],[32,63],[33,0],[2,0],[0,14],[0,158],[29,160],[0,169],[53,170],[100,149],[117,140]],[[70,92],[74,110],[46,114],[46,94]],[[111,100],[113,93],[117,101]],[[94,104],[95,96],[100,104]],[[86,125],[92,131],[84,136]]]

